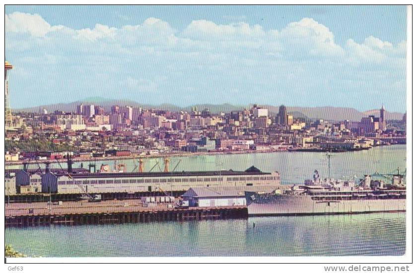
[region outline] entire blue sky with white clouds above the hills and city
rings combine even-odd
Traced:
[[[87,97],[406,111],[406,6],[6,5],[11,108]]]

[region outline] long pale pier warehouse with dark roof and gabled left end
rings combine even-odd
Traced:
[[[83,194],[101,194],[103,200],[180,196],[191,187],[279,186],[279,172],[245,171],[106,172],[72,169],[7,170],[5,202],[75,201]]]

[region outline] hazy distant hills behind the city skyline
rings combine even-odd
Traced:
[[[235,110],[249,109],[253,104],[248,105],[231,105],[231,104],[194,104],[186,107],[177,106],[174,104],[160,104],[160,105],[150,105],[143,104],[132,100],[114,100],[107,99],[102,97],[89,97],[79,101],[74,101],[70,103],[59,103],[51,105],[41,105],[37,107],[30,107],[24,109],[13,109],[13,112],[39,112],[39,109],[46,109],[48,112],[54,112],[56,110],[65,111],[65,112],[75,112],[77,105],[84,104],[98,104],[104,107],[106,110],[109,110],[112,105],[129,105],[133,107],[142,107],[145,109],[160,109],[167,111],[190,111],[192,106],[197,106],[199,111],[202,111],[206,108],[209,109],[211,113],[225,112]],[[273,105],[262,105],[267,108],[269,113],[272,116],[275,116],[279,111],[279,106]],[[324,119],[328,121],[342,121],[342,120],[351,120],[351,121],[360,121],[362,117],[367,117],[369,115],[374,115],[379,117],[379,109],[369,110],[365,112],[360,112],[353,108],[346,107],[295,107],[287,106],[287,112],[294,116],[294,119],[304,119],[304,120],[316,120]],[[398,112],[386,112],[388,120],[401,120],[403,118],[402,113]]]

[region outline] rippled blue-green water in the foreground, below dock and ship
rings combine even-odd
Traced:
[[[253,228],[255,223],[255,228]],[[397,256],[405,213],[7,228],[28,256]]]

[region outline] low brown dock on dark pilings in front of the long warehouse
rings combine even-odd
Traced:
[[[5,207],[5,227],[52,225],[122,224],[162,221],[246,218],[246,206],[170,208],[167,204],[148,207],[139,200],[100,203],[66,202],[13,204]]]

